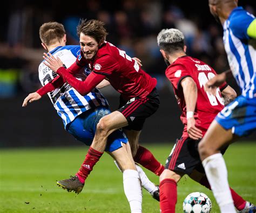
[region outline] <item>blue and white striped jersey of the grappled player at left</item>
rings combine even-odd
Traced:
[[[76,61],[77,55],[80,54],[80,46],[59,46],[53,49],[51,54],[58,56],[68,68]],[[57,76],[48,66],[44,65],[43,61],[39,65],[38,72],[39,80],[43,86]],[[85,68],[76,77],[83,81],[89,73],[90,70]],[[65,83],[61,88],[51,91],[48,93],[48,96],[58,115],[63,119],[65,129],[70,122],[86,110],[94,109],[96,106],[109,105],[98,89],[95,88],[89,94],[82,96],[68,83]]]

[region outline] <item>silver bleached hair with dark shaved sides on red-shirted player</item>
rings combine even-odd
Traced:
[[[163,29],[157,36],[157,44],[169,54],[183,51],[184,34],[178,29]]]

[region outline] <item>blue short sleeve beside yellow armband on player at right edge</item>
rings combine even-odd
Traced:
[[[249,39],[247,29],[254,19],[255,17],[246,11],[234,16],[230,20],[230,29],[234,36],[239,39]]]

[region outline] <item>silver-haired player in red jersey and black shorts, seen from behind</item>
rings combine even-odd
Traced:
[[[224,108],[224,101],[233,100],[235,91],[224,82],[215,96],[206,93],[204,84],[216,75],[213,68],[203,61],[186,55],[184,35],[177,29],[162,30],[157,37],[160,52],[169,66],[166,77],[171,81],[184,124],[181,138],[172,148],[160,175],[161,213],[175,212],[177,182],[184,174],[207,188],[211,188],[198,153],[198,143],[217,113]],[[224,153],[227,147],[224,147]],[[241,210],[246,201],[231,189],[235,207]]]

